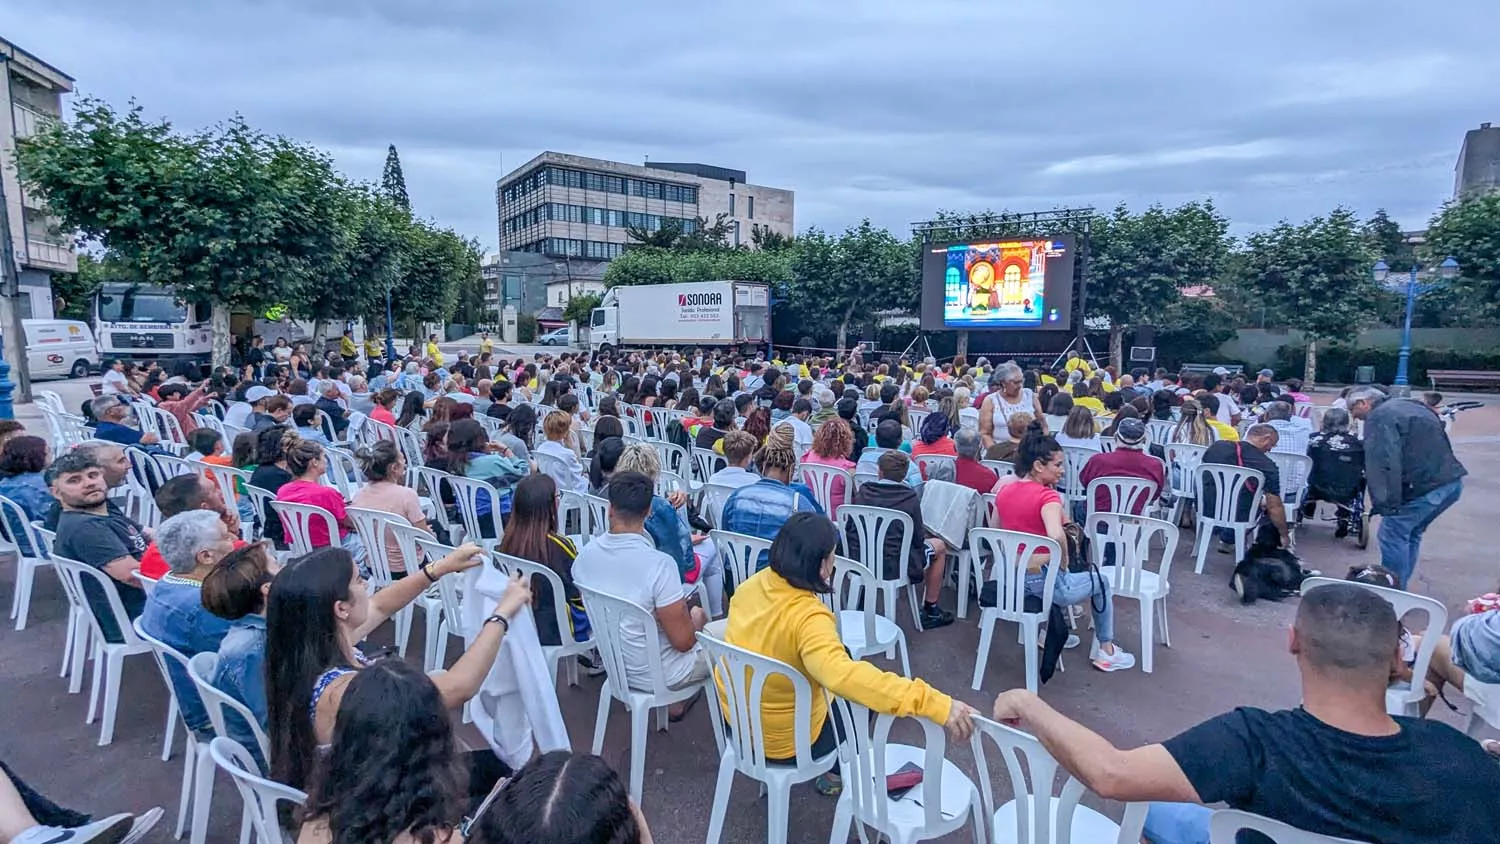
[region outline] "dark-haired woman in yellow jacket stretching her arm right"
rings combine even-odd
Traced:
[[[837,715],[828,717],[825,688],[876,712],[927,718],[945,726],[956,741],[968,739],[974,730],[969,721],[975,714],[972,706],[920,679],[906,679],[854,660],[844,651],[834,613],[819,598],[831,591],[837,544],[838,534],[826,516],[796,513],[788,519],[771,544],[771,565],[735,589],[724,640],[780,660],[808,679],[813,687],[810,735],[814,757],[831,753],[843,738]],[[723,687],[718,696],[724,700]],[[760,706],[766,759],[795,760],[792,684],[782,678],[768,679]],[[818,790],[825,795],[837,795],[840,789],[837,774],[818,778]]]

